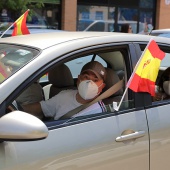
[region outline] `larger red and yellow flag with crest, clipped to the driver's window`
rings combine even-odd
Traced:
[[[160,50],[157,43],[153,39],[150,40],[127,83],[127,87],[134,92],[148,92],[151,96],[155,96],[155,81],[161,60],[164,57],[165,53]]]

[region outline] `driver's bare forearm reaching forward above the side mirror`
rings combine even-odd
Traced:
[[[24,109],[25,112],[30,113],[38,117],[39,119],[43,119],[44,117],[40,103],[31,103],[27,105],[22,105],[22,108]]]

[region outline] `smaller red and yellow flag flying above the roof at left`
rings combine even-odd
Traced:
[[[12,36],[30,34],[26,21],[29,10],[27,10],[20,18],[14,22],[14,30]]]

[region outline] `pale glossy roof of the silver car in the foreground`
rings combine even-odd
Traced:
[[[154,37],[148,35],[131,34],[128,33],[114,33],[114,32],[52,32],[28,34],[21,36],[13,36],[1,38],[0,43],[20,44],[33,46],[39,49],[45,49],[50,46],[62,44],[64,42],[78,42],[83,39],[86,46],[112,43],[112,42],[148,42],[151,38],[158,42],[167,43],[167,39],[162,37]],[[81,41],[82,42],[82,41]],[[169,42],[170,43],[170,42]],[[83,47],[83,44],[80,46]]]

